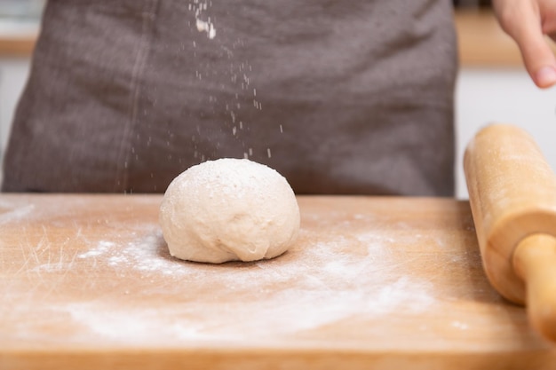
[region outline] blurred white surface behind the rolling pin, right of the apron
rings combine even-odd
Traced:
[[[465,146],[488,122],[528,130],[556,169],[556,88],[540,90],[522,68],[463,68],[456,91],[457,197],[468,197],[463,171]]]

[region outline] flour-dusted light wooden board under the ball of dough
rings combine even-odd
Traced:
[[[0,195],[0,369],[556,368],[466,201],[298,197],[274,260],[172,258],[160,195]]]

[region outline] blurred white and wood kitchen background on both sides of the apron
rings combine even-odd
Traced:
[[[44,3],[0,0],[0,160],[14,107],[27,81]],[[496,24],[490,1],[454,0],[453,4],[460,59],[457,197],[466,199],[463,152],[476,130],[488,122],[509,122],[528,130],[556,169],[556,88],[541,91],[530,81],[517,47]]]

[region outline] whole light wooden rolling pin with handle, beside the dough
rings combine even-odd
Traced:
[[[476,134],[464,169],[490,283],[556,341],[556,176],[534,139],[507,124]]]

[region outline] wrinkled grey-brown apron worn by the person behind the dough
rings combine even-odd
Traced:
[[[51,0],[3,190],[162,193],[248,157],[296,193],[453,195],[452,23],[448,0]]]

